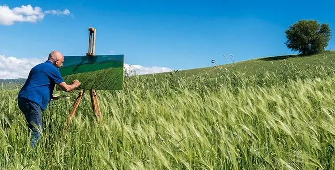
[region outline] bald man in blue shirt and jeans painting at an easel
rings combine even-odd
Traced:
[[[65,83],[59,72],[63,62],[64,56],[60,52],[52,51],[46,62],[30,70],[25,84],[18,93],[18,106],[33,132],[31,139],[33,148],[36,147],[42,132],[42,111],[47,108],[51,99],[57,99],[52,97],[55,84],[66,92],[74,90],[81,84],[78,80],[74,80],[71,85]]]

